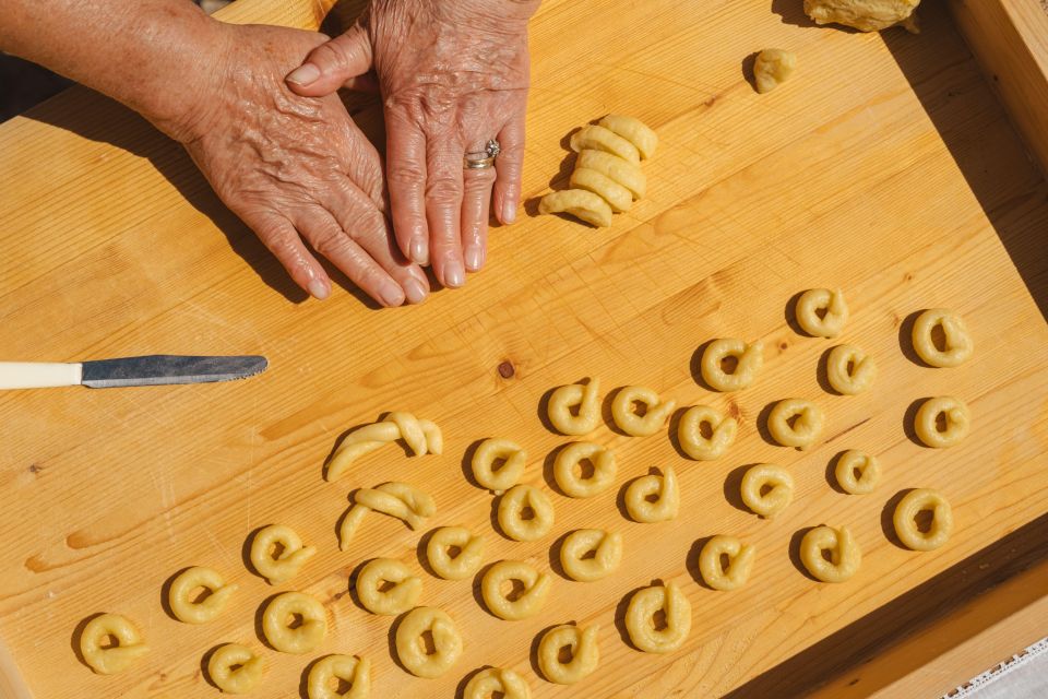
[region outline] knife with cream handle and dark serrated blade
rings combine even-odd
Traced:
[[[0,362],[0,389],[43,389],[86,386],[108,389],[126,386],[210,383],[245,379],[265,371],[265,357],[186,357],[151,355],[100,359],[81,364]]]

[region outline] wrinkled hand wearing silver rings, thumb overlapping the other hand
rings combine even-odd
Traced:
[[[527,20],[537,0],[372,0],[357,24],[287,78],[299,95],[359,88],[374,69],[385,106],[386,183],[401,251],[450,287],[487,251],[487,222],[521,197]],[[496,167],[463,169],[490,139]]]

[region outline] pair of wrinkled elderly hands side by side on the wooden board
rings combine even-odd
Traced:
[[[504,224],[515,216],[537,5],[372,0],[330,40],[223,25],[218,84],[165,130],[312,296],[331,293],[315,252],[381,305],[417,304],[429,293],[420,265],[462,286],[484,264],[489,206]],[[381,91],[384,168],[342,87]],[[492,138],[496,167],[464,170],[464,154]]]

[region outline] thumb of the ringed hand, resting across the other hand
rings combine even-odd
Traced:
[[[303,97],[323,97],[340,87],[358,90],[371,81],[371,42],[360,24],[341,36],[321,44],[302,64],[284,79],[291,92]]]

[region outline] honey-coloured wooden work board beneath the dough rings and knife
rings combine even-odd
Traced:
[[[811,682],[826,679],[876,650],[877,638],[919,628],[932,605],[949,605],[942,590],[972,595],[995,571],[1012,572],[1009,561],[1043,558],[1044,538],[1022,528],[1048,511],[1048,188],[945,13],[929,8],[919,37],[878,36],[810,26],[797,4],[547,0],[532,29],[529,215],[492,232],[491,262],[464,291],[417,308],[372,311],[343,292],[302,301],[179,149],[105,99],[72,91],[0,128],[0,356],[262,353],[272,363],[229,384],[0,394],[0,636],[36,696],[215,696],[202,655],[223,641],[261,648],[255,611],[274,589],[245,570],[241,547],[277,521],[321,549],[279,589],[323,600],[332,632],[309,656],[265,651],[269,680],[255,697],[296,696],[302,668],[329,652],[370,656],[376,694],[391,698],[452,696],[486,664],[523,672],[536,697],[752,696],[776,667],[796,670],[790,660],[802,659]],[[302,26],[321,14],[291,5],[240,0],[233,10]],[[797,51],[799,69],[759,96],[742,66],[766,46]],[[373,103],[353,108],[376,127]],[[648,197],[609,230],[534,217],[534,199],[564,185],[563,135],[610,110],[662,138],[645,165]],[[868,394],[826,394],[817,367],[832,343],[787,322],[788,299],[817,285],[846,289],[853,319],[843,339],[881,367]],[[940,305],[973,329],[977,353],[963,368],[931,370],[905,356],[906,319]],[[716,395],[696,384],[696,347],[722,335],[764,340],[765,369],[751,390]],[[532,454],[526,479],[549,487],[544,459],[568,440],[544,429],[539,401],[583,376],[738,412],[739,440],[724,460],[693,463],[665,435],[602,427],[595,438],[620,464],[616,488],[672,464],[681,517],[633,524],[614,493],[555,494],[553,534],[508,542],[490,529],[490,496],[463,476],[463,454],[480,438],[512,437]],[[940,393],[963,396],[975,416],[972,436],[946,452],[904,429],[914,401]],[[829,414],[825,439],[809,452],[771,446],[758,429],[762,410],[788,395]],[[338,436],[391,408],[437,420],[444,455],[390,448],[345,482],[323,482]],[[826,483],[829,461],[851,447],[884,463],[874,495]],[[739,469],[759,461],[789,467],[798,485],[774,523],[733,505]],[[623,533],[626,564],[592,584],[557,576],[543,614],[512,624],[478,605],[471,581],[425,576],[425,602],[457,620],[466,649],[446,676],[413,678],[390,656],[390,621],[357,607],[347,579],[377,555],[418,568],[419,533],[374,518],[347,554],[334,537],[348,490],[386,479],[428,488],[440,508],[431,524],[483,531],[491,560],[545,568],[560,535],[597,525]],[[885,502],[914,486],[941,488],[954,506],[957,530],[939,552],[885,537]],[[846,584],[815,583],[791,561],[797,533],[821,522],[857,532],[864,565]],[[1022,555],[957,567],[1015,531],[1009,550]],[[760,548],[738,592],[694,580],[695,543],[716,533]],[[228,613],[203,627],[160,606],[164,581],[193,564],[241,585]],[[618,626],[621,601],[653,579],[679,582],[694,607],[687,645],[666,656],[631,650]],[[944,581],[936,600],[907,596],[934,581]],[[884,609],[890,623],[868,643],[805,660]],[[141,625],[154,650],[133,672],[99,677],[78,662],[74,628],[98,611]],[[602,625],[602,668],[562,688],[535,676],[531,648],[540,630],[569,620]]]

